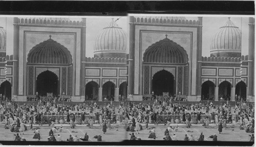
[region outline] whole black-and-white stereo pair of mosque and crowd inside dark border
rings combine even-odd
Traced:
[[[0,16],[0,138],[254,142],[254,22]]]

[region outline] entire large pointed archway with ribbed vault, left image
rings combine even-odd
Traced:
[[[58,96],[64,93],[74,96],[72,55],[68,48],[51,39],[51,35],[49,37],[50,39],[35,45],[29,51],[26,68],[27,95],[32,96],[38,92],[38,95],[53,93]],[[46,70],[52,72],[42,72]]]

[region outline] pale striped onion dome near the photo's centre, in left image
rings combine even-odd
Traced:
[[[94,57],[125,58],[127,38],[122,28],[113,20],[96,37]]]

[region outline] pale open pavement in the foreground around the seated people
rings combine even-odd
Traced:
[[[142,140],[154,140],[152,138],[147,138],[148,133],[150,130],[145,130],[144,124],[141,124],[143,130],[139,131],[140,134],[136,134],[135,136],[140,137]],[[240,130],[239,126],[236,126],[235,128],[229,128],[230,125],[227,124],[228,129],[224,130],[222,134],[219,134],[218,132],[218,126],[215,124],[210,124],[209,129],[206,129],[204,126],[198,125],[198,124],[192,124],[191,128],[186,128],[185,124],[170,124],[172,127],[175,127],[176,125],[179,126],[178,132],[171,132],[171,137],[174,133],[178,136],[179,140],[183,140],[185,134],[191,135],[198,137],[201,132],[203,132],[205,136],[205,140],[211,141],[211,138],[208,138],[210,135],[214,135],[216,133],[218,135],[218,140],[220,141],[248,141],[249,140],[249,134],[251,133],[246,133],[245,130]],[[56,127],[60,127],[61,124],[55,125]],[[70,125],[68,124],[62,124],[64,131],[59,132],[57,131],[54,133],[54,136],[57,138],[57,134],[60,134],[62,136],[62,140],[66,141],[69,138],[69,135],[72,135],[73,137],[77,134],[78,137],[84,136],[84,133],[88,133],[89,135],[89,141],[97,141],[97,139],[93,138],[93,136],[101,134],[102,136],[102,141],[122,141],[124,139],[130,139],[130,134],[132,132],[126,132],[124,129],[124,125],[111,125],[112,129],[108,130],[106,134],[103,134],[102,132],[102,126],[99,124],[95,124],[93,129],[87,127],[86,125],[76,125],[75,129],[71,129]],[[49,127],[49,125],[33,125],[33,128],[40,128],[40,135],[41,135],[41,141],[47,141],[47,137],[49,134],[50,129],[52,126]],[[156,134],[157,138],[156,140],[163,140],[164,136],[164,131],[167,128],[167,126],[164,126],[164,124],[148,124],[148,128],[155,127],[156,129]],[[29,129],[29,125],[27,125],[27,128]],[[233,131],[232,131],[233,130]],[[72,132],[75,131],[75,132]],[[191,132],[189,132],[191,131]],[[15,132],[10,132],[10,129],[4,129],[4,127],[0,128],[0,138],[1,140],[6,140],[6,141],[12,141],[15,139],[14,134]],[[27,141],[37,141],[37,139],[33,139],[34,136],[34,130],[28,130],[24,132],[24,135],[20,135],[21,137],[25,137]],[[135,132],[134,132],[135,133]],[[19,133],[20,134],[20,133]],[[81,141],[81,140],[80,140]]]

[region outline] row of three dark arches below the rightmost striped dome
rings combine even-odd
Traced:
[[[205,81],[202,84],[202,100],[214,100],[218,101],[222,97],[223,100],[231,100],[234,101],[235,96],[237,95],[237,100],[245,100],[246,98],[246,84],[243,81],[237,83],[236,87],[232,87],[232,85],[223,81],[219,84],[219,87],[216,87],[215,84],[211,81]]]

